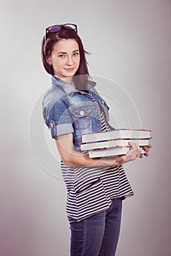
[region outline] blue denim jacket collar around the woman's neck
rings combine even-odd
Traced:
[[[69,83],[66,83],[64,80],[61,80],[54,75],[52,75],[51,81],[54,86],[61,87],[61,89],[63,89],[66,94],[74,94],[75,92],[78,92],[78,90],[75,89],[74,86],[72,86]],[[95,86],[96,86],[96,82],[90,81],[90,80],[88,81],[88,90],[93,89]]]

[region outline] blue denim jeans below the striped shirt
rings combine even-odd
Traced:
[[[76,222],[69,217],[71,256],[114,256],[121,227],[121,198],[112,200],[110,208]]]

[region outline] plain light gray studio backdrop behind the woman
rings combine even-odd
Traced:
[[[123,205],[116,255],[171,255],[170,17],[170,0],[1,4],[0,255],[69,255],[66,190],[58,160],[43,151],[48,139],[41,137],[37,105],[50,85],[40,58],[44,29],[67,22],[77,23],[92,53],[91,74],[118,83],[133,99],[140,125],[152,129],[151,157],[126,170],[135,195]],[[99,89],[115,98],[114,88]]]

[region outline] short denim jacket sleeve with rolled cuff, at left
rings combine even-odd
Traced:
[[[72,117],[62,99],[50,108],[48,123],[52,138],[73,132]]]

